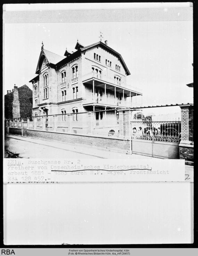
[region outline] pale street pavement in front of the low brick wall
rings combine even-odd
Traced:
[[[68,144],[64,142],[34,139],[17,135],[6,135],[5,148],[22,158],[152,158],[151,156],[138,154],[127,155],[80,144]],[[193,166],[185,165],[185,171],[193,171]]]

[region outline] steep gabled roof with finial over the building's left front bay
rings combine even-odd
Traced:
[[[39,73],[39,70],[41,68],[41,64],[42,64],[44,58],[46,58],[46,60],[49,64],[55,65],[56,63],[65,59],[65,56],[60,56],[56,53],[52,53],[52,52],[42,48],[40,56],[39,56],[39,61],[38,61],[37,67],[36,67],[36,72],[35,72],[36,74]]]

